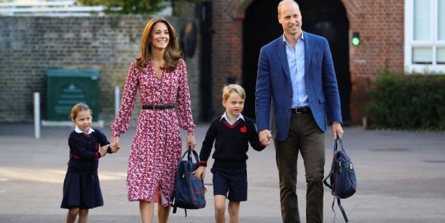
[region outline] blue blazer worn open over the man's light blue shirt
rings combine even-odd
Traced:
[[[304,32],[305,85],[312,115],[321,131],[327,129],[327,119],[343,122],[340,97],[332,55],[327,40]],[[261,48],[258,62],[255,108],[258,131],[272,130],[275,140],[289,134],[293,88],[283,37]]]

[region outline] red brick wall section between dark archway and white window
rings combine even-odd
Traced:
[[[351,104],[354,124],[362,122],[369,98],[366,89],[382,69],[403,71],[403,1],[343,0],[350,23],[350,36],[360,33],[360,44],[350,44]]]

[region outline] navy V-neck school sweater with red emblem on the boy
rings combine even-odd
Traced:
[[[245,160],[248,159],[246,153],[249,149],[249,142],[257,151],[265,148],[259,142],[257,129],[252,119],[245,116],[244,119],[245,121],[238,119],[233,125],[227,123],[225,119],[221,119],[221,116],[213,119],[204,142],[202,142],[200,166],[207,167],[213,142],[215,142],[215,151],[212,156],[215,159],[213,167],[223,169],[246,167]]]

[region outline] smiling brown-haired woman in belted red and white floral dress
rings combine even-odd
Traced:
[[[187,144],[194,148],[195,124],[186,63],[179,52],[175,29],[165,19],[151,19],[140,46],[140,56],[129,68],[118,117],[111,125],[111,144],[117,149],[119,135],[128,130],[139,90],[143,109],[131,144],[128,199],[139,201],[143,223],[152,223],[154,203],[158,203],[158,222],[163,223],[168,220],[181,158],[179,127],[187,131]]]

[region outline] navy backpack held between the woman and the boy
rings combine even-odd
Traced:
[[[192,154],[196,163],[193,163]],[[186,156],[187,160],[184,160]],[[198,158],[196,151],[189,147],[178,163],[175,190],[172,194],[173,213],[176,213],[177,208],[184,208],[187,217],[187,209],[198,209],[206,206],[204,180],[195,177],[198,163],[200,163],[200,158]]]

